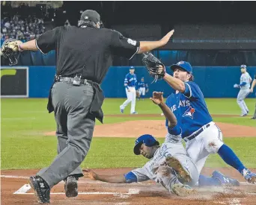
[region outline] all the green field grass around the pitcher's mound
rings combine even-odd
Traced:
[[[119,105],[124,99],[106,99],[103,104],[105,123],[125,122],[127,120],[148,119],[143,116],[123,117]],[[54,136],[43,136],[47,131],[55,130],[53,113],[46,110],[47,99],[1,99],[1,169],[42,168],[49,165],[56,155],[57,139]],[[255,99],[246,99],[251,113],[255,109]],[[236,99],[207,99],[207,107],[212,114],[239,114]],[[159,114],[159,108],[150,100],[139,101],[136,110],[144,114]],[[129,107],[125,112],[129,113]],[[151,119],[163,119],[153,117]],[[256,127],[256,122],[240,117],[214,117],[216,122],[226,122]],[[100,124],[97,122],[97,124]],[[162,142],[162,139],[160,139]],[[229,138],[225,142],[234,149],[237,155],[249,167],[256,165],[255,138]],[[146,160],[132,154],[134,139],[127,138],[94,138],[91,149],[82,163],[83,167],[137,167]],[[210,156],[207,166],[225,166],[219,156]]]

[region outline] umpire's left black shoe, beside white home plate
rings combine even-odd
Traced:
[[[45,180],[39,176],[29,177],[29,184],[34,189],[34,195],[39,203],[48,204],[50,201],[50,189]]]

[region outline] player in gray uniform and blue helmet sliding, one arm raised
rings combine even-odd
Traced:
[[[153,136],[148,134],[136,139],[134,154],[141,154],[150,161],[143,167],[129,171],[127,174],[99,175],[90,169],[85,171],[91,180],[108,183],[133,183],[154,180],[164,186],[168,192],[180,196],[189,195],[193,192],[190,186],[194,186],[198,182],[198,170],[192,159],[186,155],[181,139],[181,129],[177,127],[174,114],[163,103],[162,92],[153,92],[151,100],[159,105],[166,119],[168,119],[168,133],[165,136],[165,142],[161,146]],[[179,134],[172,134],[177,131]]]

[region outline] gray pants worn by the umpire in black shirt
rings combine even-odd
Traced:
[[[50,188],[71,174],[83,176],[79,165],[88,153],[94,132],[95,118],[88,117],[93,97],[89,83],[73,86],[58,82],[52,86],[58,155],[48,168],[37,173]]]

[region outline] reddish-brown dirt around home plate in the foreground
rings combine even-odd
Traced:
[[[124,174],[132,168],[97,169],[100,174]],[[224,174],[237,177],[242,183],[237,188],[205,187],[197,189],[197,193],[187,198],[169,194],[162,186],[153,182],[131,184],[101,183],[87,178],[79,180],[79,195],[76,198],[66,198],[64,183],[61,182],[51,190],[51,204],[256,204],[256,185],[245,183],[243,177],[234,168],[218,168]],[[211,174],[212,168],[204,168],[204,174]],[[254,169],[256,171],[256,169]],[[1,204],[2,205],[34,205],[37,204],[31,189],[22,191],[20,188],[28,183],[28,177],[37,170],[1,171]],[[28,187],[29,188],[29,187]],[[18,191],[19,190],[19,191]],[[18,191],[18,192],[17,192]],[[16,192],[16,194],[14,194]]]

